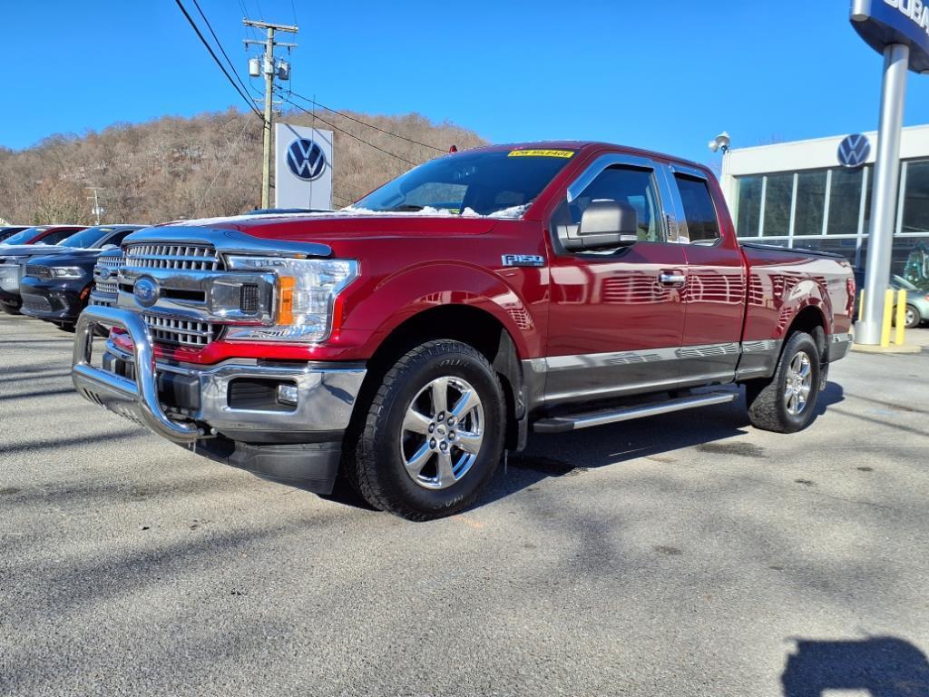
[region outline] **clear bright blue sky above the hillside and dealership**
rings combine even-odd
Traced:
[[[494,142],[603,139],[709,163],[724,129],[744,147],[877,127],[882,59],[848,0],[200,2],[242,75],[242,4],[295,15],[295,91]],[[5,5],[0,145],[242,107],[172,0]],[[929,123],[929,76],[910,75],[905,123]]]

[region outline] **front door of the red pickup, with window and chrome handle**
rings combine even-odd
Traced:
[[[546,401],[589,401],[673,387],[684,333],[686,259],[668,239],[667,179],[647,158],[600,155],[572,182],[549,221],[552,296]],[[635,208],[638,242],[570,249],[584,209]]]

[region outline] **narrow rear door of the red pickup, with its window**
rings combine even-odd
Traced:
[[[687,260],[684,293],[684,384],[730,382],[739,363],[746,271],[721,194],[699,169],[672,165],[678,243]],[[720,213],[724,215],[720,215]]]

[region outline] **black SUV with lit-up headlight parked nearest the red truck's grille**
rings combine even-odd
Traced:
[[[22,313],[54,322],[62,329],[72,329],[81,310],[87,307],[94,284],[94,267],[102,251],[99,245],[122,243],[126,235],[140,227],[111,225],[88,228],[60,244],[66,251],[29,258],[20,280]],[[77,246],[83,244],[94,246]]]

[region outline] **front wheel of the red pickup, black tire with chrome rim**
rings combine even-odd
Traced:
[[[428,520],[470,506],[504,447],[504,392],[491,364],[448,339],[416,347],[384,375],[347,475],[364,499]]]

